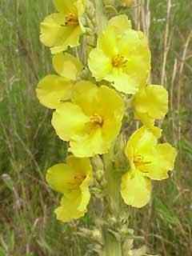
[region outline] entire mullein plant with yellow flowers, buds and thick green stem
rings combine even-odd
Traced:
[[[61,222],[82,218],[92,197],[99,255],[147,255],[132,248],[127,206],[146,206],[152,181],[174,169],[177,152],[157,126],[168,93],[149,84],[149,43],[125,14],[131,1],[106,2],[54,0],[55,13],[41,23],[55,74],[42,78],[37,96],[54,110],[52,126],[68,143],[66,159],[47,170],[46,181],[61,194],[54,210]],[[133,131],[133,122],[140,128]]]

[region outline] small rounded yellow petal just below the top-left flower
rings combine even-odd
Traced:
[[[71,54],[59,53],[53,58],[54,70],[64,78],[76,80],[82,71],[82,62]]]

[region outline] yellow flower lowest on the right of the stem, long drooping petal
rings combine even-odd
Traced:
[[[177,152],[144,126],[136,130],[126,145],[130,170],[122,176],[122,198],[127,205],[145,206],[150,201],[151,181],[169,178]]]

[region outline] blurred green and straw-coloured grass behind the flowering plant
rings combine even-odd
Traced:
[[[150,206],[131,210],[138,241],[161,255],[192,255],[192,39],[190,0],[135,1],[134,26],[150,38],[152,82],[170,91],[164,137],[178,147],[171,178],[154,182]],[[140,5],[142,4],[142,5]],[[39,22],[53,10],[49,0],[0,1],[0,256],[94,255],[77,226],[62,225],[58,202],[46,186],[48,166],[65,158],[66,145],[50,126],[51,113],[34,88],[50,73],[50,52],[38,41]]]

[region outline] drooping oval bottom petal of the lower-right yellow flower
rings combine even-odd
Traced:
[[[151,182],[139,171],[129,171],[122,176],[121,194],[128,206],[141,208],[150,201]]]

